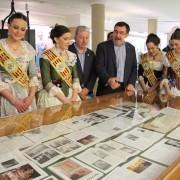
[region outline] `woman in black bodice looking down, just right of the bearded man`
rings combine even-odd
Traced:
[[[160,39],[156,34],[149,34],[146,40],[148,52],[140,56],[138,79],[145,95],[145,102],[152,103],[159,94],[161,101],[172,96],[168,80],[163,79],[165,55],[159,48]],[[160,85],[160,92],[159,92]]]

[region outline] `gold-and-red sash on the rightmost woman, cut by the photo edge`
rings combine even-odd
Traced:
[[[174,54],[173,51],[169,51],[167,54],[166,54],[170,64],[171,64],[171,67],[172,69],[174,70],[174,72],[176,73],[176,75],[180,78],[180,61],[178,61],[176,59],[176,56]]]

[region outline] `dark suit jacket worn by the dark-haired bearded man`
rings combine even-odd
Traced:
[[[126,60],[124,67],[124,88],[128,84],[135,85],[137,79],[137,60],[135,48],[130,43],[125,43]],[[97,95],[114,93],[122,88],[113,90],[107,81],[110,77],[117,76],[116,55],[113,40],[105,41],[97,46],[96,50],[96,71],[99,77]]]

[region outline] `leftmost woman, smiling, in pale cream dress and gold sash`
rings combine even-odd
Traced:
[[[15,13],[8,19],[8,37],[0,40],[1,117],[36,109],[35,50],[23,40],[26,28],[27,17]]]

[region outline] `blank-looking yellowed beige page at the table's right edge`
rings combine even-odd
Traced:
[[[142,125],[143,128],[168,133],[180,124],[180,110],[164,108]]]

